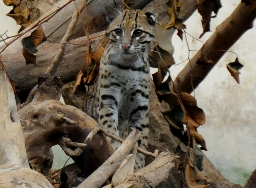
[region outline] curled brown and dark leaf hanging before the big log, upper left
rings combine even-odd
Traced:
[[[22,39],[21,43],[23,46],[22,53],[26,60],[26,64],[36,64],[36,55],[33,53],[36,53],[37,46],[44,42],[46,40],[46,37],[43,32],[43,28],[40,25],[38,28],[36,28],[30,36],[25,37]]]

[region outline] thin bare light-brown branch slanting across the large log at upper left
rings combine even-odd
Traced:
[[[64,49],[66,47],[66,44],[69,41],[69,39],[72,35],[72,32],[74,30],[74,27],[78,21],[79,13],[84,10],[84,8],[86,7],[86,3],[87,3],[87,1],[84,1],[82,3],[82,5],[80,7],[77,7],[77,10],[74,11],[72,18],[71,18],[71,22],[69,23],[67,32],[65,33],[64,37],[61,40],[59,50],[58,50],[57,54],[55,55],[51,65],[45,71],[45,74],[52,74],[55,72],[57,66],[59,65],[60,59],[62,58],[62,55],[64,54]]]

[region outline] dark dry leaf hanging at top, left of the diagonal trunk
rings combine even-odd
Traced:
[[[220,0],[203,0],[200,1],[198,12],[202,16],[203,33],[200,35],[201,38],[207,31],[210,30],[210,21],[212,17],[216,17],[219,9],[222,7]],[[215,13],[212,16],[212,12]]]

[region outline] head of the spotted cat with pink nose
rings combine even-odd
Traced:
[[[107,6],[107,20],[110,22],[107,34],[115,44],[117,53],[132,55],[144,52],[154,39],[156,17],[141,10],[124,10]]]

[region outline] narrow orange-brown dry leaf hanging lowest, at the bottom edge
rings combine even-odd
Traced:
[[[185,160],[186,160],[185,162],[186,166],[184,170],[185,171],[184,175],[189,188],[205,188],[209,186],[210,184],[204,184],[204,185],[197,184],[196,172],[195,172],[195,167],[193,165],[193,162],[189,157],[186,157]]]

